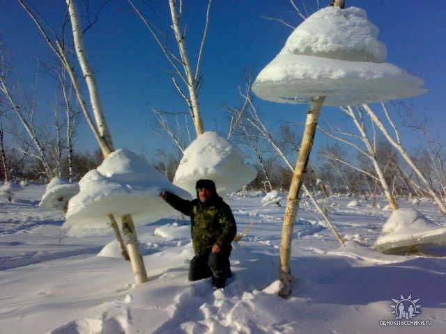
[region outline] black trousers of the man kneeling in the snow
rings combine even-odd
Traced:
[[[200,255],[195,255],[190,261],[189,280],[201,280],[213,276],[213,278],[226,278],[231,276],[231,264],[229,256],[232,247],[222,248],[218,253],[212,253],[210,249]]]

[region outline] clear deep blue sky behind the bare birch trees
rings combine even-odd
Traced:
[[[56,31],[60,31],[63,1],[34,0],[34,8]],[[189,51],[197,54],[206,10],[205,0],[184,1],[184,23],[188,25]],[[300,1],[296,1],[300,3]],[[316,1],[308,0],[310,4]],[[321,5],[329,1],[319,1]],[[79,1],[80,3],[80,1]],[[102,3],[102,1],[91,1]],[[154,22],[168,29],[167,0],[137,1]],[[425,81],[429,93],[408,99],[420,118],[431,118],[431,129],[444,142],[441,130],[446,124],[443,95],[446,92],[445,61],[446,10],[440,0],[347,0],[347,6],[367,10],[369,20],[380,29],[379,39],[387,45],[387,62],[417,74]],[[13,70],[29,88],[34,81],[36,58],[47,59],[52,51],[38,34],[31,19],[14,0],[0,0],[0,37],[14,59]],[[258,73],[282,48],[291,29],[262,19],[261,16],[284,17],[297,25],[300,20],[286,0],[214,0],[208,42],[201,72],[204,75],[200,93],[201,110],[206,130],[227,132],[224,104],[238,101],[237,87],[243,84],[243,72]],[[100,13],[98,22],[85,35],[91,65],[97,72],[98,85],[107,120],[117,148],[129,148],[149,156],[157,148],[169,148],[148,131],[153,121],[148,104],[164,111],[187,112],[183,100],[163,68],[169,68],[160,48],[141,20],[131,13],[127,1],[111,0]],[[39,86],[40,112],[45,113],[54,100],[54,86],[42,76]],[[258,102],[270,125],[280,119],[303,122],[307,106],[290,106]],[[323,109],[323,118],[339,120],[337,111]],[[404,130],[403,137],[417,145],[417,136]],[[318,134],[316,141],[325,141]],[[86,126],[79,132],[79,148],[96,148]]]

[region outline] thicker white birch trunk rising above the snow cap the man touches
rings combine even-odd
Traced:
[[[75,0],[66,0],[68,6],[68,12],[70,13],[70,21],[72,26],[72,36],[75,42],[75,50],[77,54],[77,59],[82,68],[82,74],[86,84],[89,88],[91,108],[93,109],[93,116],[98,126],[99,134],[101,138],[105,140],[109,152],[114,151],[112,135],[110,134],[107,122],[105,120],[105,114],[102,109],[102,103],[100,101],[100,95],[98,86],[96,85],[95,77],[91,67],[89,65],[88,59],[86,58],[86,51],[84,47],[84,39],[82,36],[82,28],[79,23],[79,14],[77,13]],[[104,155],[107,157],[107,154]]]

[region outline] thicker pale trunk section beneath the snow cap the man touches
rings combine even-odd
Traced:
[[[139,250],[139,241],[137,230],[134,228],[133,218],[131,214],[125,214],[121,217],[123,222],[123,234],[125,244],[127,244],[128,255],[132,263],[134,280],[137,284],[146,283],[148,281],[144,260]]]

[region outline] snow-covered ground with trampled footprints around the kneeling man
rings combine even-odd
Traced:
[[[318,223],[312,207],[298,213],[295,280],[284,300],[275,294],[284,207],[229,197],[238,231],[255,223],[234,245],[235,277],[213,292],[209,280],[187,281],[192,247],[181,217],[178,223],[173,217],[139,226],[150,280],[135,286],[129,262],[96,256],[101,250],[114,254],[112,234],[67,237],[61,214],[37,207],[44,191],[27,186],[17,194],[20,200],[0,202],[1,333],[446,333],[445,258],[371,250],[391,212],[368,202],[328,203],[344,247]],[[431,202],[415,208],[446,226]],[[431,324],[381,326],[398,320],[392,306],[401,296],[420,299],[420,314],[406,324]]]

